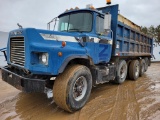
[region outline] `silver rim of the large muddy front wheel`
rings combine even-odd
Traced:
[[[79,77],[73,86],[73,98],[80,101],[86,94],[87,80],[84,76]]]

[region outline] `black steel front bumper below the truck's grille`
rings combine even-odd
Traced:
[[[8,67],[2,69],[2,80],[23,92],[45,92],[46,80],[26,78],[11,71]]]

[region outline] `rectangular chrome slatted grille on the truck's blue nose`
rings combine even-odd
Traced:
[[[15,37],[10,39],[10,60],[11,63],[24,66],[25,63],[24,37]]]

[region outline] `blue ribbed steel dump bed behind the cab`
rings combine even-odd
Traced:
[[[112,15],[112,56],[152,56],[153,39],[141,32],[140,26],[118,13],[118,5],[98,8]]]

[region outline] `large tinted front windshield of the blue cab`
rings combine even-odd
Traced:
[[[90,32],[92,30],[92,14],[72,13],[59,18],[58,31]]]

